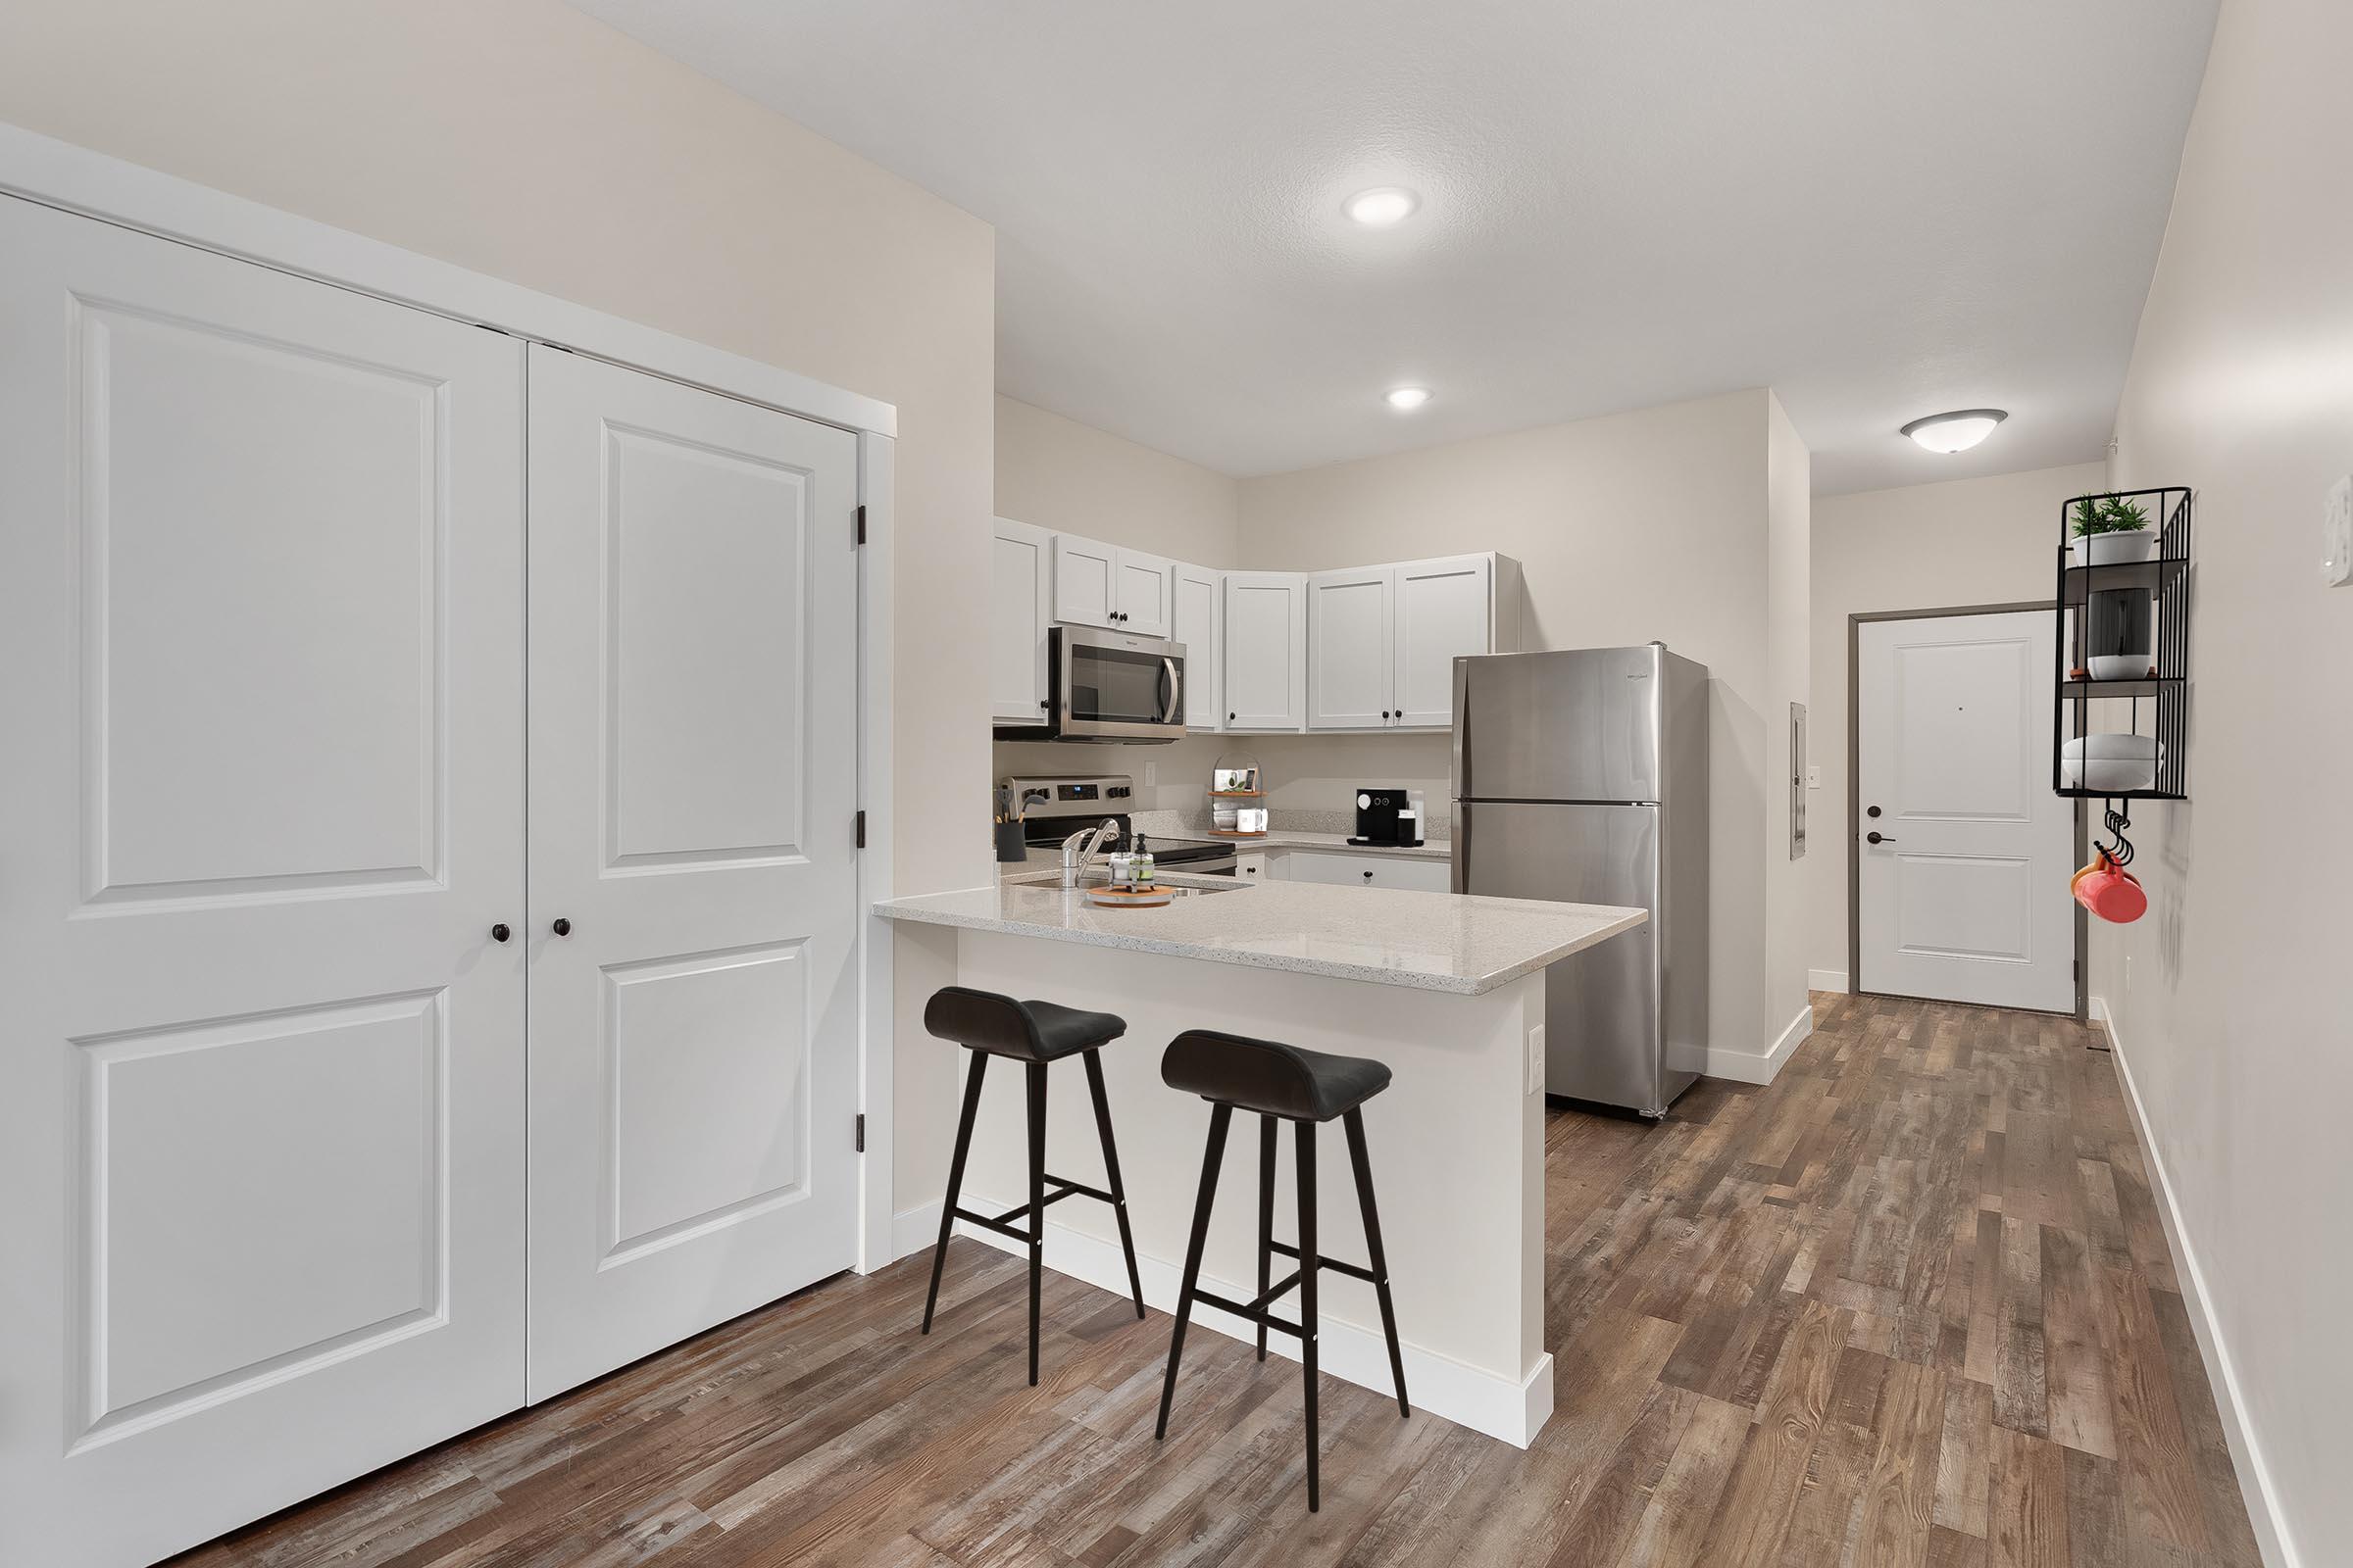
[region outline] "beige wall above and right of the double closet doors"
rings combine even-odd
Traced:
[[[988,875],[986,223],[558,0],[14,0],[0,115],[894,402],[896,879]],[[908,1180],[955,1077],[899,1044]]]

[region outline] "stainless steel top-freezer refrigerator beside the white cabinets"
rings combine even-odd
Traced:
[[[1664,1117],[1706,1060],[1706,686],[1657,642],[1454,661],[1454,891],[1649,910],[1546,973],[1546,1093]]]

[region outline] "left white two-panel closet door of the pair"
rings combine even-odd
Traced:
[[[0,1556],[522,1401],[522,348],[0,197]]]

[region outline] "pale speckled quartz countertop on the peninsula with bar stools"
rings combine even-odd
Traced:
[[[1158,910],[1099,910],[1082,893],[1064,893],[1047,875],[960,893],[892,898],[878,903],[875,914],[1461,997],[1492,992],[1649,919],[1645,910],[1537,898],[1466,898],[1315,882],[1238,886],[1231,877],[1162,882],[1221,891],[1184,896]]]

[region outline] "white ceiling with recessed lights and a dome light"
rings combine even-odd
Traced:
[[[1056,414],[1257,475],[1774,386],[1849,491],[2101,456],[2217,0],[574,5],[995,223]]]

